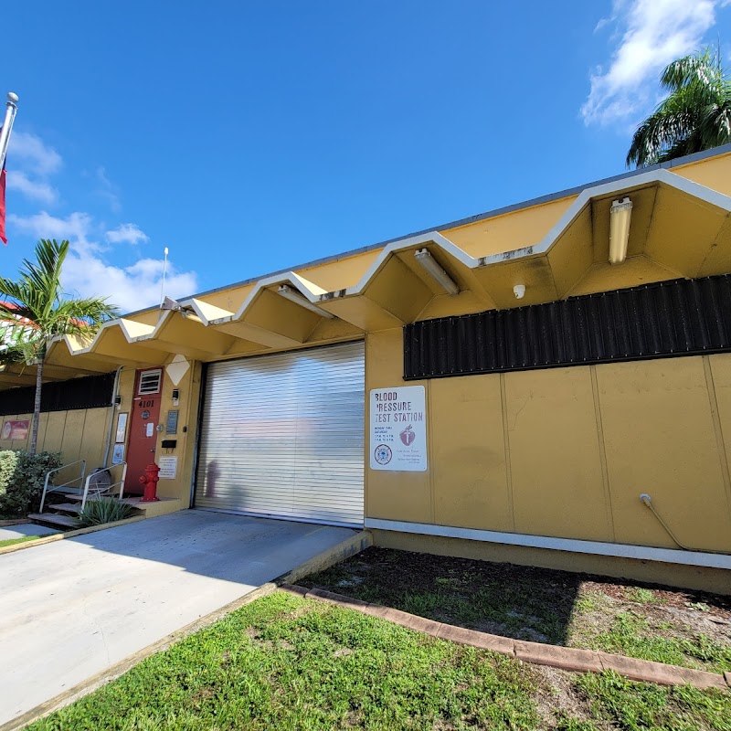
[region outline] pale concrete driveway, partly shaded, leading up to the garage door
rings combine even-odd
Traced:
[[[354,533],[186,510],[0,556],[0,725]]]

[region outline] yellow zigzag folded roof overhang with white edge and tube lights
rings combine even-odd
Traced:
[[[628,258],[610,268],[609,208],[620,196],[629,196],[633,204]],[[200,295],[181,300],[179,312],[161,311],[156,324],[149,324],[149,317],[145,323],[120,318],[105,323],[88,343],[58,339],[48,352],[48,365],[57,370],[48,376],[66,368],[87,375],[117,365],[161,365],[176,354],[211,361],[342,342],[418,318],[560,300],[594,286],[588,282],[604,286],[601,282],[606,285],[611,277],[622,283],[607,289],[726,273],[731,269],[730,213],[731,197],[656,169],[583,190],[531,246],[473,257],[450,240],[449,231],[399,239],[378,253],[355,285],[340,290],[325,291],[286,271],[232,291],[235,304],[240,292],[235,308]],[[429,250],[459,286],[458,294],[447,294],[419,265],[418,249]],[[516,284],[525,286],[519,301]],[[282,297],[281,285],[301,294],[314,310]],[[12,377],[4,373],[0,387]],[[23,374],[26,382],[29,372]]]

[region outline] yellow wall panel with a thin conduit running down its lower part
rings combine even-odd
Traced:
[[[620,543],[731,549],[731,516],[702,357],[598,365],[599,403]]]

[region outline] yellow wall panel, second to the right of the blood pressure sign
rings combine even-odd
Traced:
[[[504,378],[515,531],[610,540],[590,369]]]

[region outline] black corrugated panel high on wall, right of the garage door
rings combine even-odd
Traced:
[[[673,280],[404,327],[404,378],[731,351],[731,275]]]

